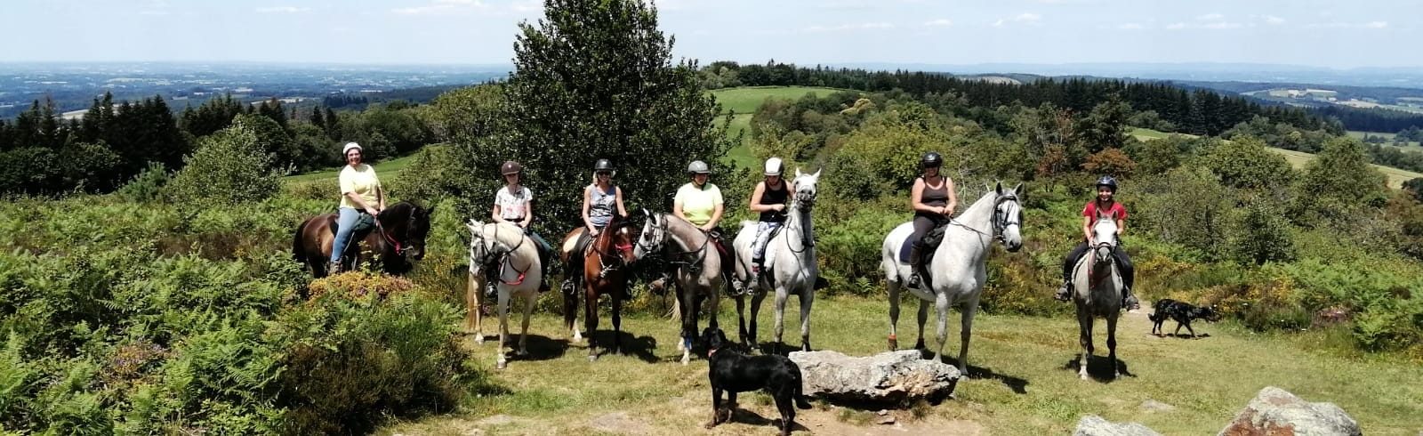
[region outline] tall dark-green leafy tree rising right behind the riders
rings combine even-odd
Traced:
[[[538,26],[521,23],[515,37],[508,131],[492,150],[468,142],[488,151],[472,154],[468,170],[492,181],[501,161],[522,161],[556,231],[578,225],[582,184],[569,181],[588,180],[598,158],[619,165],[630,207],[670,208],[692,160],[727,174],[730,117],[713,127],[720,105],[703,94],[694,63],[673,64],[672,47],[645,1],[546,0]]]

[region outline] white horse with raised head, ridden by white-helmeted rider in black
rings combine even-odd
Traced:
[[[815,184],[820,181],[820,171],[803,174],[795,168],[795,178],[791,181],[795,195],[785,214],[785,224],[780,234],[766,244],[766,266],[760,281],[748,284],[751,288],[751,326],[746,326],[744,295],[736,296],[736,312],[740,321],[741,342],[753,351],[758,349],[756,342],[756,315],[761,311],[761,301],[766,292],[776,289],[776,348],[773,353],[780,353],[781,333],[784,331],[785,298],[791,294],[800,296],[801,302],[801,351],[810,351],[810,306],[815,301],[815,279],[820,268],[815,266],[815,232],[811,228],[810,212],[815,205]],[[741,231],[737,232],[731,244],[736,256],[741,261],[736,265],[736,279],[747,282],[751,272],[751,244],[756,241],[756,221],[741,221]]]

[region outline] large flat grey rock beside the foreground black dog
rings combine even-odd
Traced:
[[[793,352],[805,395],[850,402],[938,402],[953,393],[959,370],[918,351],[851,358],[832,351]]]

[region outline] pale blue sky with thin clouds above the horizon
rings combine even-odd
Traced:
[[[18,61],[509,64],[541,0],[6,0]],[[1419,0],[662,0],[673,54],[797,64],[1420,67]]]

